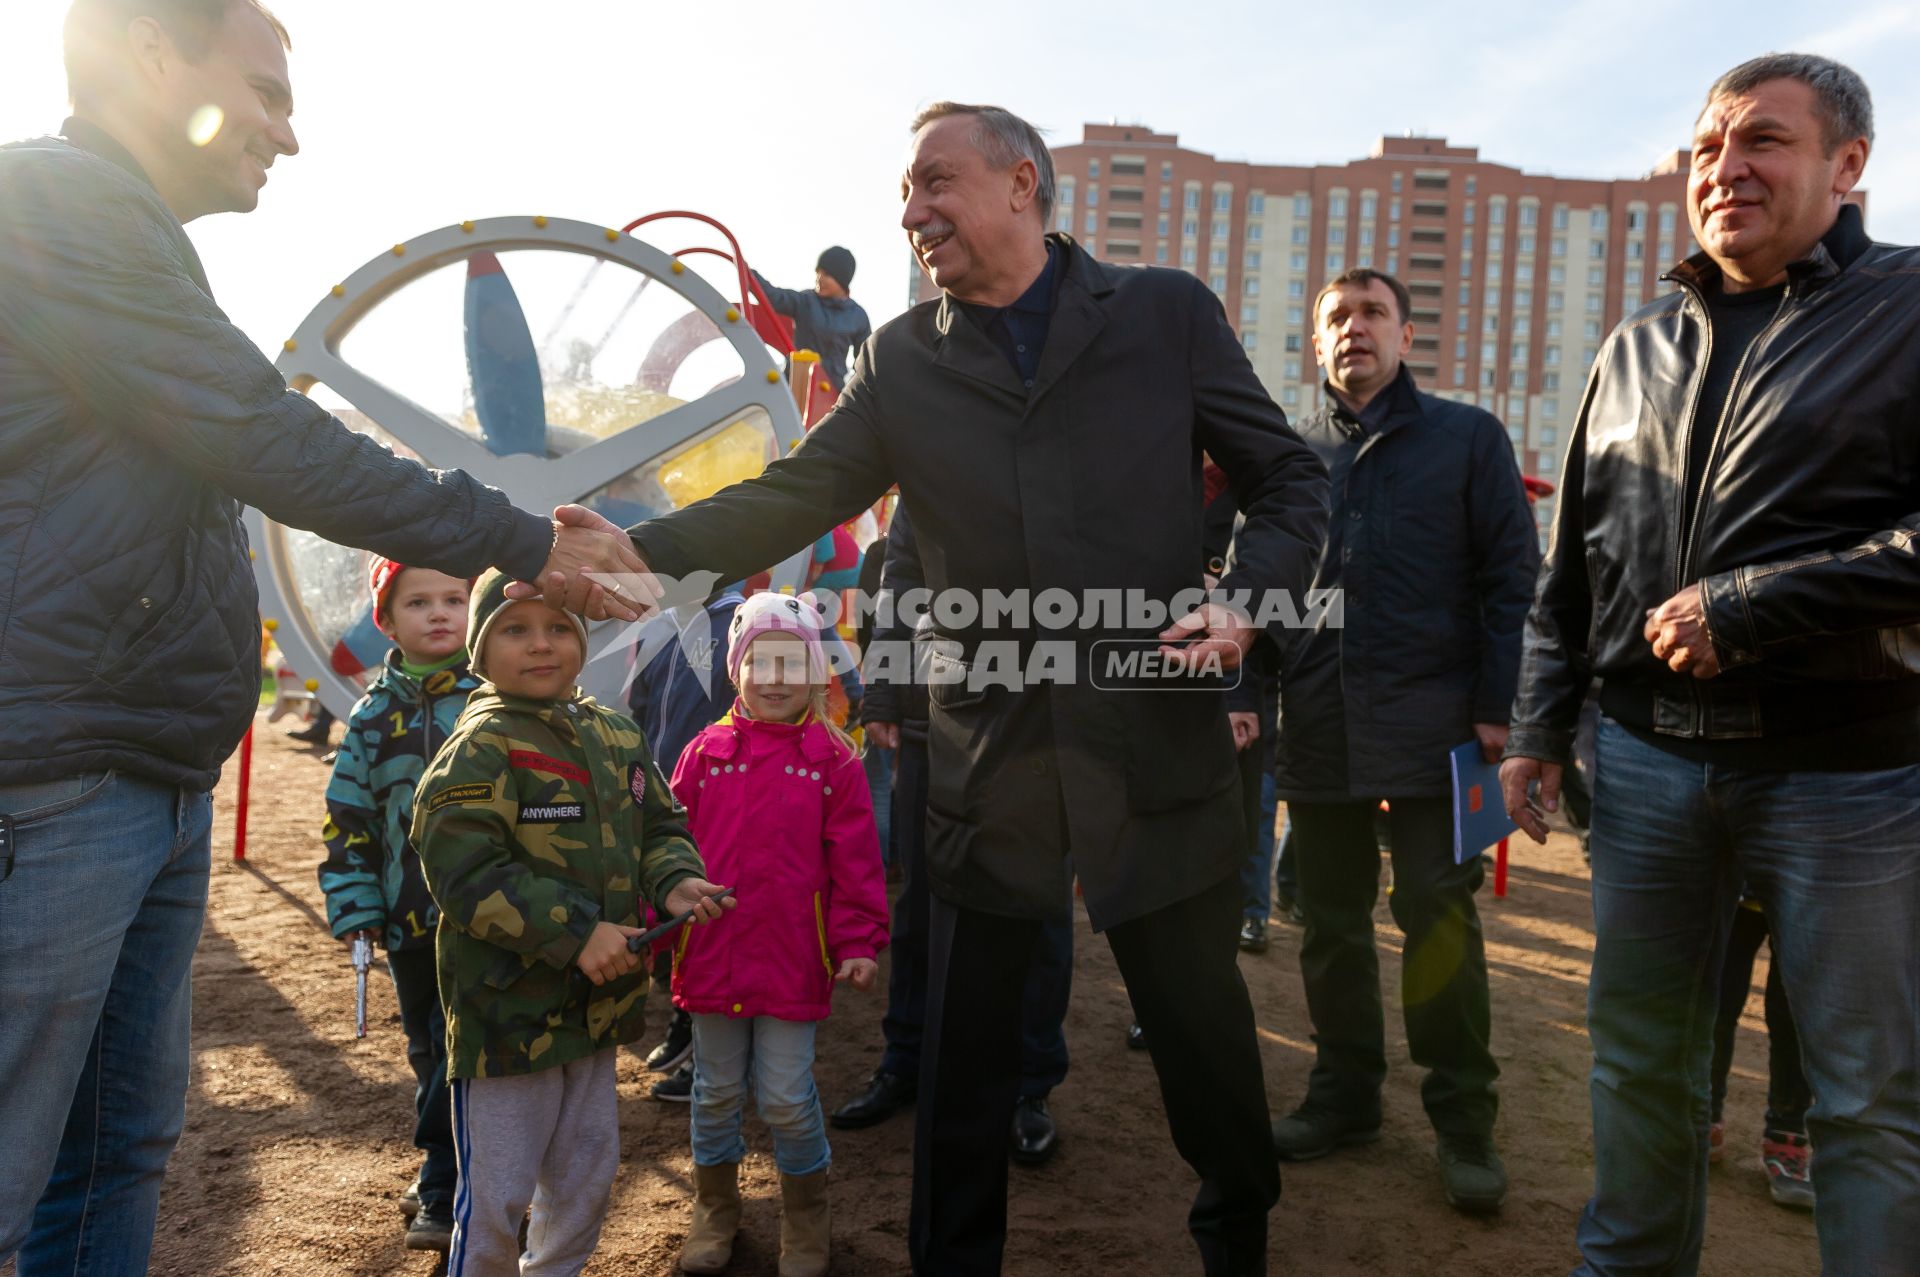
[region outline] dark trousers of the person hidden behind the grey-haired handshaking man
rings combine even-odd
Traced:
[[[893,966],[887,976],[887,1014],[879,1022],[887,1052],[879,1068],[895,1077],[920,1075],[927,1022],[927,743],[900,737],[893,780],[893,862],[900,866],[900,895],[893,903]],[[1066,1081],[1068,999],[1073,993],[1073,918],[1041,924],[1041,941],[1027,968],[1020,1014],[1020,1095],[1044,1096]],[[1002,1150],[1004,1135],[1002,1129]]]

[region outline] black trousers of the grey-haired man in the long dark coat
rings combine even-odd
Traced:
[[[908,1250],[920,1277],[998,1273],[1023,989],[1043,924],[939,899],[929,916]],[[1267,1271],[1267,1212],[1281,1200],[1238,926],[1235,874],[1106,933],[1146,1029],[1173,1146],[1200,1175],[1187,1227],[1210,1277]]]

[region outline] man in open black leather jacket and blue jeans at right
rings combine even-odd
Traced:
[[[1544,839],[1597,674],[1582,1275],[1697,1269],[1741,883],[1803,1020],[1824,1269],[1920,1273],[1920,252],[1847,204],[1870,140],[1824,58],[1715,83],[1705,252],[1609,338],[1571,444],[1501,782]]]

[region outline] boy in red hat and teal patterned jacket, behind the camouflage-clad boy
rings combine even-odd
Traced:
[[[415,1075],[413,1143],[424,1154],[419,1179],[401,1196],[401,1212],[411,1216],[407,1246],[445,1250],[459,1169],[447,1098],[447,1025],[434,970],[440,910],[407,833],[420,772],[453,734],[467,695],[480,686],[467,668],[472,586],[457,576],[374,559],[369,588],[374,624],[396,647],[353,707],[334,759],[321,891],[336,939],[367,933],[386,949]]]

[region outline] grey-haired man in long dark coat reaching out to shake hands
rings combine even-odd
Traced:
[[[1188,657],[1227,666],[1252,641],[1221,603],[1167,607],[1200,590],[1202,451],[1246,511],[1227,590],[1304,591],[1327,478],[1219,300],[1190,275],[1100,265],[1048,236],[1052,188],[1025,121],[927,108],[902,225],[945,296],[866,344],[797,451],[632,532],[655,572],[732,578],[897,482],[935,593],[1050,591],[1035,618],[1048,597],[1094,591],[1160,605],[1156,624],[1106,614],[1068,630],[1071,668],[1052,686],[985,668],[985,643],[1035,651],[1037,624],[935,609],[947,655],[927,741],[931,974],[910,1248],[916,1273],[1000,1267],[1025,970],[1077,874],[1152,1043],[1175,1144],[1202,1179],[1188,1225],[1206,1271],[1263,1273],[1279,1164],[1235,966],[1244,830],[1225,701],[1108,691],[1087,672],[1096,639],[1190,639]]]

